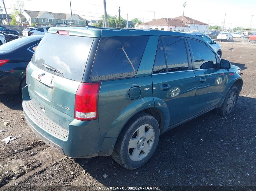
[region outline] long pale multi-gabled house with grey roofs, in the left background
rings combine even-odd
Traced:
[[[73,18],[73,23],[72,23]],[[86,25],[85,19],[77,14],[52,13],[48,11],[22,11],[22,14],[16,16],[16,21],[21,24],[28,22],[39,26],[76,26],[82,27]]]

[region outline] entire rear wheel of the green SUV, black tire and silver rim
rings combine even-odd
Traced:
[[[159,135],[157,120],[147,113],[138,114],[121,131],[112,157],[127,169],[139,168],[153,155]]]

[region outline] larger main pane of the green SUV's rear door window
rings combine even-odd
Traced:
[[[168,72],[188,70],[188,57],[183,38],[163,37]]]

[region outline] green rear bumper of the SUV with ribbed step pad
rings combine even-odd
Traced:
[[[23,112],[27,120],[28,126],[32,131],[55,151],[71,156],[74,158],[89,158],[94,156],[108,156],[111,155],[116,138],[104,138],[99,131],[98,119],[91,121],[80,121],[74,119],[69,124],[68,131],[64,129],[64,135],[56,134],[56,125],[47,126],[45,123],[38,121],[41,120],[42,112],[40,116],[33,114],[38,111],[32,111],[32,107],[27,107],[27,103],[33,104],[30,100],[27,86],[22,89],[23,96]],[[45,115],[44,115],[45,116]],[[45,116],[46,117],[46,116]],[[40,120],[38,120],[38,118]],[[48,123],[54,123],[50,119],[47,119]],[[55,123],[54,123],[55,124]],[[52,128],[52,129],[51,129]],[[61,127],[57,127],[57,131],[61,132]]]

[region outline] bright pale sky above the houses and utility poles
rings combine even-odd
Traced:
[[[70,13],[69,0],[20,0],[26,10]],[[183,4],[186,2],[184,15],[210,25],[224,28],[236,26],[256,28],[256,1],[254,0],[106,0],[107,14],[118,15],[120,6],[121,17],[131,20],[139,18],[142,22],[154,18],[175,18],[182,16]],[[5,0],[7,13],[12,12],[15,0]],[[2,2],[0,2],[2,5]],[[72,13],[90,20],[97,20],[104,14],[103,0],[85,1],[71,0]],[[4,11],[4,10],[3,10]],[[253,15],[253,18],[251,15]],[[251,22],[252,18],[252,22]]]

